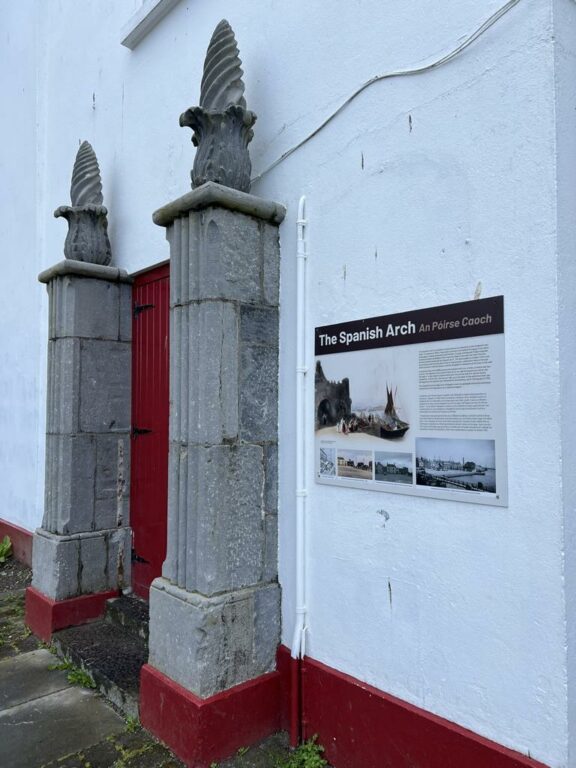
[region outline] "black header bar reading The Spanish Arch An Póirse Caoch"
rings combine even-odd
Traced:
[[[355,352],[504,333],[504,297],[462,301],[316,328],[315,354]]]

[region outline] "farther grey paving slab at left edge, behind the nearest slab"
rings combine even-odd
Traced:
[[[57,659],[45,650],[0,661],[0,713],[26,701],[69,687],[66,674],[53,667]]]

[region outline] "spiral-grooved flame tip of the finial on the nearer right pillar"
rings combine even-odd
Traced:
[[[237,104],[246,109],[241,64],[232,27],[226,19],[222,19],[214,30],[204,60],[201,107],[212,112],[223,112],[230,104]]]

